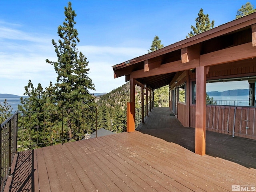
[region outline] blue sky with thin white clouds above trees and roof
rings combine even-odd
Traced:
[[[185,39],[200,8],[219,26],[234,20],[248,0],[71,2],[77,14],[77,48],[89,62],[89,77],[96,88],[93,93],[110,92],[124,84],[124,77],[114,79],[112,66],[146,54],[154,36],[164,46]],[[250,2],[256,7],[256,0]],[[63,0],[1,0],[0,93],[22,96],[28,80],[43,88],[56,82],[57,74],[45,60],[57,61],[51,41],[59,39],[57,28],[64,21],[67,5]]]

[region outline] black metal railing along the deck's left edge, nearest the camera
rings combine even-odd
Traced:
[[[14,154],[17,151],[17,130],[18,113],[13,114],[1,124],[0,130],[0,191],[4,191],[4,186],[8,176]]]

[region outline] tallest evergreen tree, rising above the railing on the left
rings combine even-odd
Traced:
[[[78,31],[74,28],[74,18],[76,13],[72,10],[71,2],[65,7],[65,21],[63,26],[58,26],[60,40],[52,44],[55,48],[58,62],[46,60],[54,65],[54,70],[58,74],[56,83],[56,102],[58,108],[84,108],[93,105],[93,98],[89,94],[90,90],[95,90],[92,80],[88,77],[89,68],[86,57],[76,49]]]

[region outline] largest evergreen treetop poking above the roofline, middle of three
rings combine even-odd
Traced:
[[[191,29],[193,30],[193,32],[190,31],[186,38],[195,36],[212,28],[214,28],[214,20],[210,22],[209,15],[205,15],[203,13],[203,9],[201,8],[198,13],[198,17],[196,18],[196,26],[191,25]]]

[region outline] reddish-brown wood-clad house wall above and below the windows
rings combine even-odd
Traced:
[[[248,78],[249,76],[256,76],[256,60],[254,61],[254,59],[211,66],[207,74],[207,80]],[[176,81],[177,84],[175,84]],[[196,105],[192,104],[192,82],[195,81],[196,73],[188,70],[175,76],[170,83],[171,90],[175,86],[178,89],[180,85],[186,82],[187,101],[189,102],[182,103],[178,101],[177,118],[183,126],[192,128],[195,128]],[[170,99],[172,99],[171,96]],[[171,100],[170,104],[172,104]],[[170,109],[172,109],[171,105]],[[207,105],[206,130],[256,140],[256,107]]]

